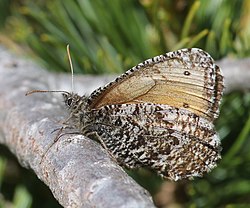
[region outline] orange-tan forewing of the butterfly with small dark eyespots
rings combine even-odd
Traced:
[[[189,111],[213,121],[223,80],[218,66],[200,49],[182,49],[149,59],[93,92],[90,107],[155,103]]]

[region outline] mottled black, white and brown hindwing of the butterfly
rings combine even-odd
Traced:
[[[167,105],[122,104],[92,110],[89,131],[128,168],[148,166],[172,180],[208,172],[220,158],[213,125]],[[100,116],[102,115],[102,116]]]

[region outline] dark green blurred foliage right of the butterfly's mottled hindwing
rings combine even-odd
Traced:
[[[223,155],[207,177],[188,185],[192,207],[249,206],[250,93],[225,96],[217,128]]]

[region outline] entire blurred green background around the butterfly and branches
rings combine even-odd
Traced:
[[[0,0],[0,44],[51,71],[122,73],[153,56],[199,47],[215,60],[250,57],[249,0]],[[250,70],[250,68],[249,68]],[[250,81],[250,80],[249,80]],[[157,207],[250,207],[250,93],[223,98],[216,129],[222,160],[204,178],[169,182],[129,174]],[[0,146],[0,208],[61,207],[50,190]]]

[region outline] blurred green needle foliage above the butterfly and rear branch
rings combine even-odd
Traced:
[[[120,73],[184,47],[201,47],[215,58],[250,53],[247,1],[187,1],[179,7],[162,0],[24,0],[13,6],[6,33],[49,70],[69,70],[70,44],[81,73]]]

